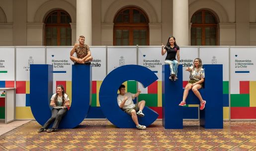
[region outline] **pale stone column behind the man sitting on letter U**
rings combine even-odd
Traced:
[[[85,36],[85,44],[92,44],[91,0],[77,0],[77,40]]]

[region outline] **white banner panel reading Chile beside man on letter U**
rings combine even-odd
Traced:
[[[103,81],[106,77],[106,47],[90,47],[93,60],[92,81]]]

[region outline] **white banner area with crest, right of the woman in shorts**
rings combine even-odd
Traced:
[[[223,64],[223,81],[229,81],[229,47],[199,48],[203,64]]]

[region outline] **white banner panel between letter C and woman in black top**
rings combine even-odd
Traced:
[[[139,47],[138,64],[149,68],[162,81],[162,65],[165,64],[166,54],[161,54],[161,47]]]

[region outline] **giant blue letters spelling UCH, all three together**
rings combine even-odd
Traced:
[[[203,99],[207,101],[200,111],[200,125],[205,128],[223,128],[222,101],[222,65],[204,65],[205,88],[201,89]],[[60,74],[60,73],[59,73]],[[183,109],[178,106],[182,99],[182,67],[178,67],[179,80],[169,80],[170,68],[163,65],[163,125],[165,128],[182,128]],[[135,124],[127,113],[117,104],[117,89],[128,80],[136,80],[148,87],[158,78],[150,69],[140,65],[124,65],[111,71],[102,82],[99,92],[100,107],[107,119],[120,128],[134,128]],[[35,119],[43,125],[50,117],[49,100],[53,92],[53,66],[32,64],[30,67],[30,105]],[[76,65],[72,67],[72,107],[64,116],[59,128],[74,128],[87,115],[91,96],[91,66]],[[146,100],[147,102],[147,100]],[[189,92],[187,103],[199,103]],[[150,125],[158,114],[148,107],[145,116],[138,118],[140,124]]]

